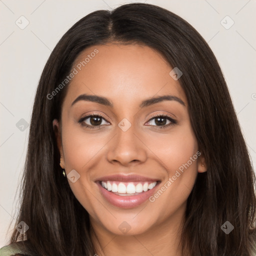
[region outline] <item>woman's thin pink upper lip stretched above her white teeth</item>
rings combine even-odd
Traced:
[[[158,181],[157,178],[149,178],[137,174],[112,174],[107,176],[101,176],[96,179],[96,181],[121,181],[121,182],[129,182],[129,181]]]

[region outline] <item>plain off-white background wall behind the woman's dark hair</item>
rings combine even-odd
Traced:
[[[0,247],[8,242],[8,226],[18,209],[16,190],[29,131],[29,126],[21,125],[29,125],[49,54],[81,17],[129,2],[152,3],[178,14],[208,42],[224,73],[255,169],[255,0],[0,0]],[[20,16],[29,22],[24,29],[15,23],[25,24]]]

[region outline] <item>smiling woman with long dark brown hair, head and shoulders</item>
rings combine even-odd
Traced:
[[[151,4],[94,11],[43,69],[7,249],[256,255],[254,182],[226,83],[199,33]]]

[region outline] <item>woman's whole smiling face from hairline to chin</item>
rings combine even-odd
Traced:
[[[73,68],[53,125],[92,225],[120,235],[178,222],[205,164],[172,67],[150,47],[108,44],[86,48]]]

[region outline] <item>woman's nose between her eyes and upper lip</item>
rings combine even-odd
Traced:
[[[107,160],[109,162],[130,166],[146,160],[147,147],[141,135],[135,132],[132,126],[126,131],[116,128],[116,135],[108,143]]]

